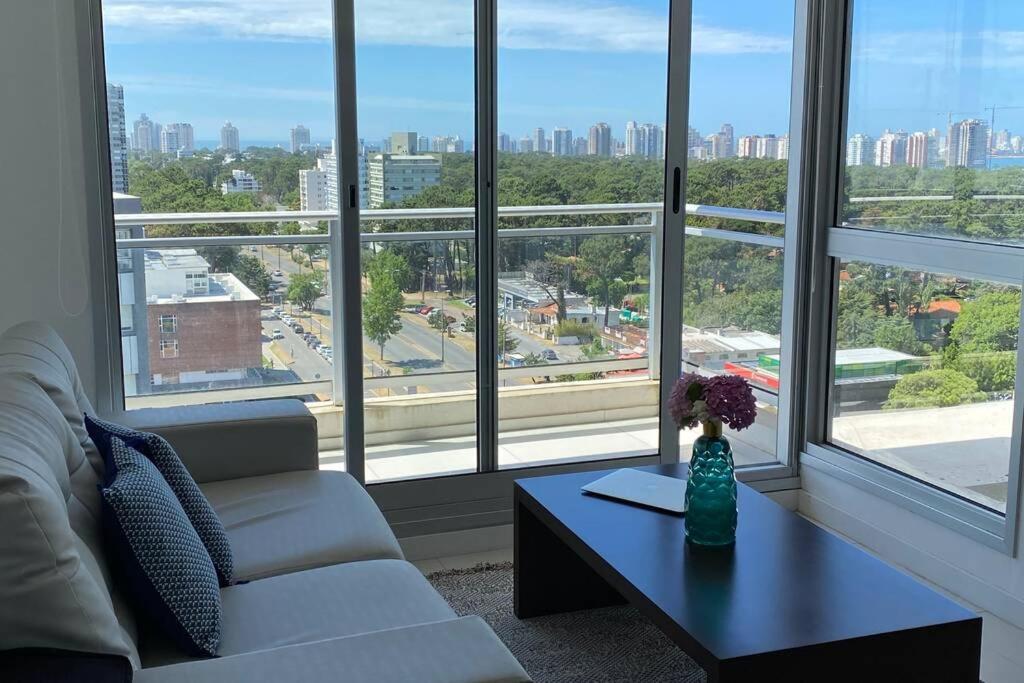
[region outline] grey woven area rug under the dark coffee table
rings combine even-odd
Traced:
[[[460,615],[490,625],[537,683],[697,683],[705,672],[633,607],[518,620],[512,563],[449,569],[427,579]]]

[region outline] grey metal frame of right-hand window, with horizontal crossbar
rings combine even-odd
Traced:
[[[804,302],[808,321],[804,364],[808,373],[808,392],[804,402],[807,422],[800,462],[990,548],[1016,556],[1024,431],[1024,326],[1018,333],[1005,515],[831,442],[830,399],[835,384],[839,264],[862,261],[1022,286],[1024,248],[842,225],[854,0],[814,2],[820,17],[818,41],[822,49],[819,74],[822,89],[817,103],[814,139],[818,150],[815,187],[822,200],[817,203],[811,228],[815,246],[810,255],[808,272],[813,287]],[[1024,306],[1021,321],[1024,322]]]

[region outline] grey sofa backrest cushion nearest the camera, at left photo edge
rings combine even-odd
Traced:
[[[130,610],[110,589],[99,477],[36,376],[0,369],[0,649],[117,654],[137,667]]]

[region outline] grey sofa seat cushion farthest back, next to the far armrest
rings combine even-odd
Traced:
[[[355,560],[402,559],[384,515],[344,472],[300,470],[214,481],[201,488],[227,530],[236,580]]]

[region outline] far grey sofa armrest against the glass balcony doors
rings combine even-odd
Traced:
[[[120,421],[166,438],[201,483],[318,467],[316,419],[294,398],[144,408]]]

